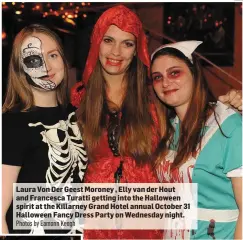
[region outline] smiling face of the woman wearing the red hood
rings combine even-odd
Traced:
[[[99,50],[99,60],[104,76],[121,75],[123,77],[132,62],[135,50],[135,36],[111,25],[103,37]]]

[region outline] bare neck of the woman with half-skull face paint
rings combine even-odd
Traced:
[[[35,106],[38,107],[56,107],[57,103],[57,93],[56,90],[54,91],[42,91],[36,89],[34,87],[31,88],[33,95]]]

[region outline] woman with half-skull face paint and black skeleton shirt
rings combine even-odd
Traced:
[[[23,233],[13,230],[13,183],[57,186],[83,179],[87,155],[76,109],[67,104],[67,71],[61,41],[54,32],[35,24],[18,33],[2,117],[3,233]],[[38,234],[45,233],[39,230]]]

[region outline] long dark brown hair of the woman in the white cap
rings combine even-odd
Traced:
[[[192,98],[185,114],[186,117],[180,125],[178,149],[177,155],[172,164],[173,169],[186,162],[190,156],[196,156],[198,144],[199,147],[201,146],[205,124],[208,117],[210,114],[214,113],[216,118],[214,106],[211,104],[212,102],[215,103],[216,99],[210,91],[206,78],[204,77],[202,67],[194,55],[192,64],[190,60],[179,50],[174,48],[163,48],[154,55],[151,64],[153,64],[155,59],[157,59],[159,56],[172,56],[184,61],[190,69],[194,80]],[[174,128],[172,127],[170,120],[174,118],[176,114],[174,109],[169,106],[167,106],[166,112],[167,139],[169,140],[169,144],[171,144]],[[165,156],[166,152],[168,151],[167,148],[168,147],[166,147],[164,144],[160,144],[156,149],[156,152],[158,153],[157,156],[159,153],[162,156]],[[163,160],[164,158],[157,157],[156,166],[158,166],[158,164],[160,164]]]

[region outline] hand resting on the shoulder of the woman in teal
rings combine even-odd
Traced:
[[[226,95],[219,96],[219,101],[242,111],[242,91],[230,90]]]

